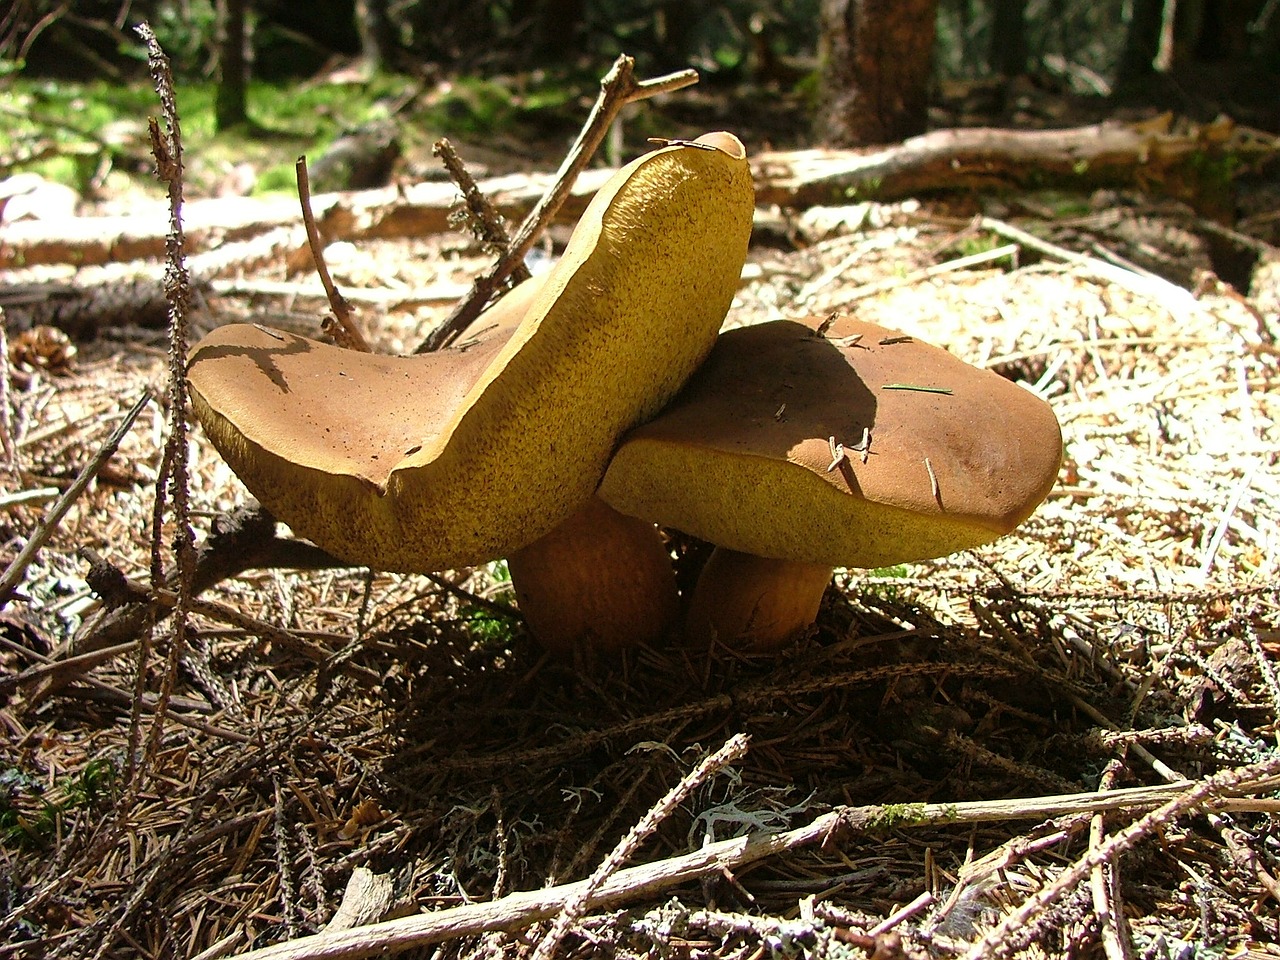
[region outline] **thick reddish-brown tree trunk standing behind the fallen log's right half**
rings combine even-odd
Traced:
[[[890,143],[928,125],[937,0],[822,0],[818,136]]]

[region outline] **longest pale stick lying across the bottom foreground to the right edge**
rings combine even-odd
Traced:
[[[1277,763],[1276,765],[1280,765]],[[1231,792],[1266,792],[1280,778],[1275,771],[1258,772],[1240,768]],[[1210,791],[1228,792],[1216,781]],[[908,804],[893,808],[846,806],[815,818],[796,829],[753,833],[733,837],[657,863],[618,870],[590,896],[589,905],[607,908],[654,896],[699,877],[735,869],[797,847],[822,844],[841,831],[872,831],[892,826],[893,829],[940,826],[947,823],[987,823],[1009,819],[1042,820],[1094,810],[1144,809],[1169,797],[1185,796],[1193,785],[1134,787],[1107,794],[1074,794],[1070,796],[1024,797],[1016,800],[984,800],[957,804]],[[1210,794],[1201,796],[1207,801]],[[1277,800],[1247,797],[1240,800],[1213,797],[1221,810],[1280,810]],[[554,916],[564,904],[576,897],[588,881],[566,883],[544,890],[512,893],[484,904],[466,904],[449,910],[436,910],[403,916],[358,929],[319,933],[296,941],[275,943],[241,955],[241,960],[344,960],[349,957],[385,956],[412,947],[442,943],[492,931],[512,931]]]

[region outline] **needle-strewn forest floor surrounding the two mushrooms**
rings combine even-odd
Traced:
[[[370,876],[402,913],[443,918],[419,955],[522,955],[557,910],[516,897],[502,923],[467,918],[588,877],[682,780],[628,863],[724,859],[655,886],[616,874],[561,956],[1280,956],[1280,261],[1236,292],[1204,273],[1217,234],[1185,206],[1071,205],[762,211],[728,324],[850,310],[1020,380],[1065,442],[1016,532],[840,571],[817,628],[776,657],[548,658],[500,564],[256,570],[202,595],[184,648],[160,607],[151,632],[93,640],[84,550],[140,582],[152,564],[169,426],[150,403],[0,613],[0,957],[238,955],[323,931]],[[1087,256],[918,273],[1005,243],[975,212]],[[326,256],[344,291],[489,262],[463,234]],[[239,279],[296,278],[266,262]],[[361,321],[404,351],[449,306]],[[192,334],[314,332],[323,312],[224,296]],[[15,335],[8,356],[6,561],[168,378],[155,329]],[[246,500],[198,429],[188,486],[201,540]],[[689,780],[740,733],[741,759]],[[731,860],[724,841],[759,831],[781,832],[767,855]]]

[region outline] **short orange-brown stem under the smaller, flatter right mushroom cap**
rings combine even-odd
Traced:
[[[717,547],[694,588],[685,637],[699,645],[776,650],[813,625],[833,570]]]

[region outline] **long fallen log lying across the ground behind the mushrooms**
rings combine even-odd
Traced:
[[[650,96],[655,90],[668,90],[669,86],[652,87],[667,82],[659,78],[635,84],[639,93],[627,95],[617,106]],[[844,204],[855,195],[888,200],[1053,184],[1068,188],[1130,184],[1194,202],[1198,196],[1212,201],[1208,192],[1229,187],[1233,175],[1229,161],[1244,161],[1235,168],[1244,169],[1274,159],[1276,152],[1276,140],[1266,134],[1229,123],[1175,131],[1165,118],[1164,123],[1103,123],[1057,131],[933,131],[876,152],[762,154],[754,170],[758,201],[788,207]],[[582,170],[576,180],[566,180],[567,164],[584,164],[589,156],[589,152],[571,155],[557,175],[513,174],[477,184],[508,220],[524,218],[541,204],[522,225],[513,247],[522,246],[531,221],[573,220],[581,214],[591,193],[612,173]],[[1212,180],[1206,170],[1221,173]],[[330,242],[443,233],[451,229],[456,201],[457,188],[452,183],[323,193],[311,198],[316,225]],[[563,205],[557,209],[559,201]],[[243,241],[296,223],[297,206],[285,197],[193,200],[183,210],[192,251],[212,250],[218,243]],[[0,269],[156,259],[163,255],[164,237],[165,218],[159,205],[131,216],[17,221],[0,228]]]

